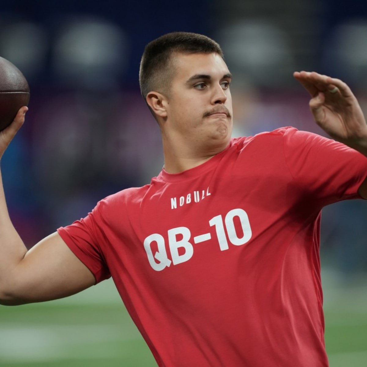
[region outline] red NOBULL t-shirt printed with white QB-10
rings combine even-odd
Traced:
[[[355,150],[281,128],[58,232],[97,282],[112,276],[159,366],[328,366],[320,210],[359,198],[366,174]]]

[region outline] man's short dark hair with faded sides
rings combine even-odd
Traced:
[[[219,44],[203,34],[171,32],[158,37],[146,45],[141,58],[139,84],[145,100],[150,91],[167,92],[174,73],[174,68],[169,67],[169,63],[175,52],[214,52],[224,58]]]

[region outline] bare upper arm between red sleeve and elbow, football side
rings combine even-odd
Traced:
[[[55,232],[31,248],[13,270],[9,304],[50,301],[95,284],[95,277]]]

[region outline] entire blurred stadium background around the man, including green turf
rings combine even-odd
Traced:
[[[313,124],[294,70],[345,80],[367,114],[367,3],[331,0],[22,1],[0,7],[0,56],[29,81],[26,124],[1,161],[26,245],[84,217],[163,165],[139,95],[143,48],[185,30],[221,43],[235,75],[234,135]],[[367,206],[323,211],[330,365],[367,365]],[[111,281],[68,299],[0,306],[0,366],[155,366]]]

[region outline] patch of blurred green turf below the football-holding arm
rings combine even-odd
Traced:
[[[0,306],[0,366],[157,366],[112,281],[40,304]]]

